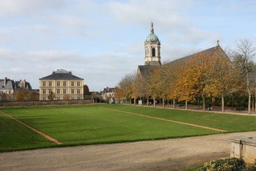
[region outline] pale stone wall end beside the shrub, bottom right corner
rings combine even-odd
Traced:
[[[236,136],[230,138],[230,156],[243,158],[249,165],[256,160],[256,140],[252,137]]]

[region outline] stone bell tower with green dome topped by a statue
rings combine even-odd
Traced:
[[[153,22],[150,22],[150,34],[145,40],[145,65],[161,65],[160,41],[154,34]]]

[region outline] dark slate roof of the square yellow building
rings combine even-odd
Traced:
[[[58,69],[56,71],[53,71],[51,75],[46,76],[46,77],[42,77],[41,79],[62,79],[62,80],[75,80],[75,79],[81,79],[77,76],[72,75],[72,72],[68,72],[64,69]]]

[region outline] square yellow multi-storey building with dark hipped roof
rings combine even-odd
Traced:
[[[51,92],[55,94],[55,100],[83,99],[83,79],[64,69],[53,71],[39,79],[39,100],[47,101]]]

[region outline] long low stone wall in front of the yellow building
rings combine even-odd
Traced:
[[[72,105],[72,104],[93,104],[93,99],[64,100],[64,101],[25,101],[25,102],[0,102],[0,107],[12,106],[44,106],[44,105]]]

